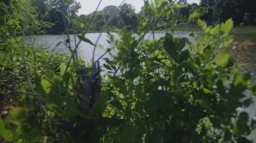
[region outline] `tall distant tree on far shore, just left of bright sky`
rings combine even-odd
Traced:
[[[81,4],[76,0],[32,0],[32,7],[41,22],[42,31],[61,33],[65,31],[65,22],[69,28],[79,25],[75,19]]]

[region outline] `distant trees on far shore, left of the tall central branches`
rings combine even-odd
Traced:
[[[108,25],[105,26],[107,30],[125,26],[134,29],[137,26],[137,14],[128,3],[124,3],[119,8],[110,5],[97,11],[96,14],[87,15],[78,15],[81,4],[75,0],[68,0],[67,3],[61,0],[32,0],[30,4],[33,8],[32,14],[35,14],[40,23],[37,28],[44,33],[60,34],[66,32],[66,28],[69,32],[80,33],[85,26],[88,31],[101,31],[106,21],[108,21]]]

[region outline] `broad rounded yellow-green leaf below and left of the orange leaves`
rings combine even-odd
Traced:
[[[216,57],[216,64],[218,66],[226,66],[230,60],[230,52],[227,50],[223,50],[218,53]]]

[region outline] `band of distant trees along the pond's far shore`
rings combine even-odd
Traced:
[[[135,9],[128,3],[121,5],[119,8],[110,5],[96,13],[77,15],[79,9],[81,9],[80,3],[74,0],[68,0],[65,4],[61,4],[61,2],[62,0],[31,1],[30,4],[39,24],[35,31],[36,34],[45,32],[60,34],[66,32],[65,25],[69,28],[69,32],[81,33],[84,27],[90,32],[102,31],[108,20],[110,21],[104,27],[104,31],[113,31],[124,27],[134,30],[138,20],[141,20],[139,18],[148,16],[145,14],[144,7],[136,14]],[[206,20],[207,25],[215,25],[230,18],[234,20],[235,26],[255,26],[256,24],[256,10],[253,8],[256,2],[254,0],[201,0],[199,5],[180,0],[177,3],[183,5],[182,7],[172,8],[175,10],[175,16],[178,19],[170,21],[166,20],[168,18],[166,17],[162,20],[165,26],[160,27],[160,29],[172,28],[174,23],[184,27],[183,24],[188,23],[189,14],[192,14],[195,9],[204,13],[202,20]],[[68,16],[63,18],[62,14]]]

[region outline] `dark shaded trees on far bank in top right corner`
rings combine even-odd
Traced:
[[[235,26],[240,23],[255,25],[255,0],[201,0],[200,5],[207,10],[203,20],[207,20],[208,24],[232,18]]]

